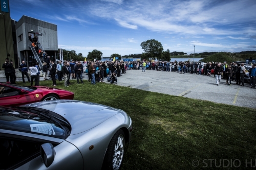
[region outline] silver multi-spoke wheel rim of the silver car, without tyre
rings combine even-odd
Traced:
[[[113,155],[113,169],[119,169],[124,153],[124,136],[120,134],[116,140],[115,148],[114,148],[114,155]]]

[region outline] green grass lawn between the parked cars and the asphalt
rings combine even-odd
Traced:
[[[71,83],[69,87],[58,83],[57,88],[73,91],[74,100],[119,108],[132,118],[132,141],[122,169],[247,169],[245,161],[251,159],[252,166],[255,164],[255,109],[115,84]],[[51,81],[40,81],[40,85],[51,84]],[[221,167],[217,168],[215,162],[210,165],[209,159],[216,159],[216,165]],[[220,164],[223,159],[238,159],[241,165],[237,160],[223,168],[223,163]],[[197,167],[192,165],[193,160],[199,161]]]

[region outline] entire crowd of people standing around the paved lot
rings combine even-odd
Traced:
[[[244,63],[231,62],[227,64],[226,62],[207,62],[201,64],[200,62],[147,62],[147,61],[132,61],[132,62],[122,62],[122,61],[96,61],[96,62],[87,62],[88,68],[88,81],[92,84],[99,82],[117,83],[117,78],[124,75],[127,69],[131,70],[157,70],[157,71],[170,71],[178,72],[180,74],[198,74],[205,76],[214,76],[216,78],[216,85],[219,85],[221,77],[226,80],[227,85],[231,85],[231,82],[234,81],[234,84],[244,86],[244,80],[246,75],[246,69]],[[255,88],[256,81],[256,64],[253,65],[248,70],[250,77],[251,88]],[[5,68],[5,74],[7,82],[10,79],[10,82],[15,84],[15,69],[13,68],[12,62],[9,62],[9,59],[6,59],[6,63],[3,64]],[[33,64],[31,67],[27,67],[25,61],[23,61],[19,70],[22,71],[22,79],[25,83],[25,76],[28,79],[28,82],[35,85],[39,85],[39,75],[40,68],[38,63]],[[31,78],[29,78],[28,70],[31,72]],[[64,80],[64,86],[68,87],[70,85],[70,79],[76,79],[78,84],[84,84],[82,80],[83,74],[83,63],[80,61],[58,61],[55,63],[54,60],[49,59],[49,64],[44,63],[42,68],[44,72],[44,80],[48,79],[48,76],[51,77],[53,84],[56,86],[56,78],[59,82]],[[57,76],[56,76],[57,75]]]

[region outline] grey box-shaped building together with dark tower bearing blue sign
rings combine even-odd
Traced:
[[[36,52],[30,47],[29,34],[38,37],[40,48],[52,58],[58,53],[57,25],[28,16],[22,16],[18,21],[11,19],[9,0],[1,0],[0,8],[0,70],[5,59],[13,62],[18,68],[24,60],[28,65],[39,60]],[[33,52],[32,52],[33,50]]]

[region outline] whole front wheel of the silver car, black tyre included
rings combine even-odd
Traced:
[[[102,169],[117,170],[120,169],[124,154],[125,135],[123,130],[119,129],[112,137],[108,150],[106,150]],[[115,161],[113,161],[115,160]]]

